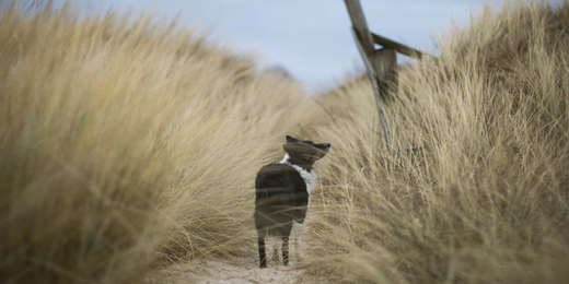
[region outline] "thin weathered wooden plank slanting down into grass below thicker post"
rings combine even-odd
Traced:
[[[383,137],[385,139],[385,145],[387,146],[387,150],[392,150],[392,139],[391,139],[391,132],[390,132],[390,126],[387,125],[387,119],[385,119],[385,115],[383,114],[383,104],[381,98],[381,91],[380,91],[380,84],[378,80],[378,73],[375,72],[374,67],[372,66],[372,62],[370,61],[370,58],[368,57],[365,49],[363,49],[363,44],[360,42],[358,34],[356,33],[356,29],[351,28],[351,34],[353,36],[353,40],[356,42],[356,45],[358,46],[358,50],[360,51],[361,58],[363,59],[363,63],[365,64],[365,69],[368,69],[368,75],[370,76],[371,85],[373,87],[373,95],[375,96],[375,104],[378,105],[378,113],[380,115],[380,122],[381,127],[383,129]]]

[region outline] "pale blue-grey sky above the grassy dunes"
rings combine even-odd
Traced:
[[[24,1],[24,2],[31,2]],[[55,1],[57,5],[62,0]],[[237,50],[254,51],[262,68],[280,66],[307,90],[325,90],[362,67],[342,0],[72,0],[90,11],[154,11],[156,21],[212,28]],[[466,24],[485,0],[361,0],[370,29],[419,50],[436,32]],[[487,1],[500,4],[502,0]],[[404,60],[399,58],[399,61]]]

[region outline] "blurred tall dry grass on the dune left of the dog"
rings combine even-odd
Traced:
[[[231,252],[256,170],[318,107],[175,24],[76,14],[0,14],[0,281],[137,283]]]

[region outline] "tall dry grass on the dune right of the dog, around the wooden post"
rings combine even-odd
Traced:
[[[310,269],[341,283],[566,283],[569,3],[485,9],[402,74],[388,152],[371,87],[323,104],[334,154]],[[317,212],[316,212],[317,211]]]

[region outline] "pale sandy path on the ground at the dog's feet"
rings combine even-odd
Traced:
[[[232,259],[209,259],[174,264],[156,273],[150,282],[160,284],[302,283],[303,270],[294,269],[294,262],[284,267],[271,261],[267,269],[260,269],[256,250],[247,250],[246,253],[240,255]],[[294,261],[294,258],[291,261]]]

